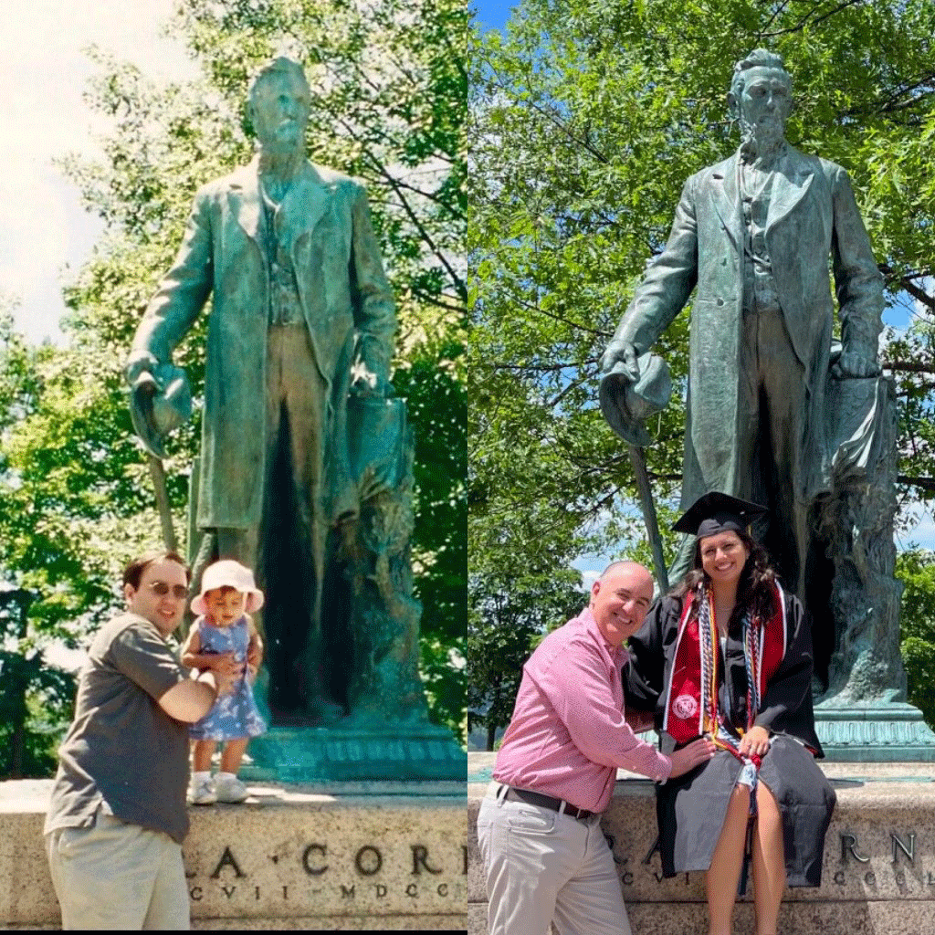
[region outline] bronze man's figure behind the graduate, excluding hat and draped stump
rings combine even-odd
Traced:
[[[778,55],[755,50],[735,66],[727,100],[740,149],[685,182],[602,367],[636,381],[640,354],[694,291],[682,509],[712,490],[768,506],[764,544],[804,597],[810,510],[834,455],[829,367],[846,381],[880,373],[884,296],[847,173],[785,141],[791,91]],[[842,341],[833,365],[829,257]],[[683,548],[672,580],[689,561]]]

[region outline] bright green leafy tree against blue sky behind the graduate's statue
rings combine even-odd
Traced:
[[[849,170],[889,301],[912,307],[884,366],[899,385],[902,496],[931,496],[933,32],[926,0],[525,0],[505,35],[486,34],[469,174],[472,561],[562,565],[634,531],[632,471],[597,410],[597,361],[665,244],[683,181],[736,149],[732,66],[763,46],[793,76],[788,138]],[[657,346],[677,382],[647,452],[666,504],[681,481],[688,319]]]

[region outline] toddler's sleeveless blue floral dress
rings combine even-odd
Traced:
[[[236,741],[242,737],[257,737],[266,733],[266,725],[256,701],[247,671],[247,647],[250,630],[246,616],[231,626],[214,626],[205,617],[194,622],[201,638],[202,653],[233,653],[244,667],[244,673],[226,695],[214,702],[214,707],[190,728],[194,741]]]

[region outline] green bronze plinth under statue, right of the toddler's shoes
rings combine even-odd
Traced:
[[[400,782],[464,784],[467,755],[451,731],[416,726],[273,727],[250,743],[253,779],[283,783],[360,782],[392,776]]]

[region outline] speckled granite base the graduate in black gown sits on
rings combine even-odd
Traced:
[[[493,754],[468,755],[468,930],[484,935],[486,890],[477,812]],[[915,935],[935,931],[935,767],[822,763],[838,794],[822,885],[786,889],[784,935]],[[611,841],[633,931],[707,935],[704,874],[662,877],[653,784],[621,771],[602,827]],[[736,932],[752,932],[753,886],[739,900]]]

